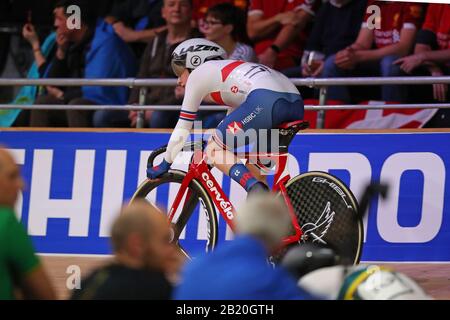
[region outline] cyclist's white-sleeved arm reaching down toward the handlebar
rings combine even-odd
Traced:
[[[177,154],[183,149],[186,140],[189,137],[190,130],[197,115],[198,108],[203,98],[208,95],[211,90],[211,70],[200,66],[195,69],[189,76],[186,84],[186,90],[183,99],[183,105],[180,111],[177,125],[170,136],[169,144],[164,159],[168,163],[173,163]]]

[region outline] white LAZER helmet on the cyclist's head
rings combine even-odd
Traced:
[[[184,69],[194,70],[210,60],[223,60],[226,51],[217,43],[194,38],[179,44],[172,53],[172,70],[179,77]]]

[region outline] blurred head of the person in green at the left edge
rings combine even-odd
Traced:
[[[12,155],[0,147],[0,206],[13,209],[23,186],[19,166]]]

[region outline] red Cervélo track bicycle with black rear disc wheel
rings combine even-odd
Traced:
[[[272,191],[283,197],[292,219],[292,234],[283,246],[299,242],[317,242],[332,248],[342,263],[357,264],[361,257],[363,226],[358,215],[358,204],[352,192],[338,178],[325,172],[308,172],[291,178],[287,170],[288,146],[299,130],[306,129],[307,122],[294,121],[281,125],[280,147],[277,153],[245,153],[239,158],[265,169],[264,159],[275,163]],[[234,206],[211,173],[204,152],[204,141],[186,145],[193,149],[188,172],[170,170],[162,177],[145,180],[131,201],[146,199],[165,184],[176,184],[178,190],[168,207],[168,219],[173,227],[173,241],[186,254],[180,235],[195,210],[206,216],[207,241],[205,250],[211,251],[218,240],[217,211],[233,230]],[[186,148],[185,148],[186,149]],[[148,159],[152,167],[155,158],[166,147],[155,150]],[[271,166],[272,167],[272,166]]]

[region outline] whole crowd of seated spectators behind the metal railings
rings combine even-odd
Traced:
[[[67,28],[66,9],[81,9],[81,28]],[[374,18],[367,8],[380,8]],[[70,19],[70,18],[69,18]],[[450,5],[374,0],[4,0],[0,3],[0,73],[18,78],[173,78],[173,48],[206,37],[229,59],[254,61],[289,77],[443,76],[450,66]],[[69,21],[70,22],[70,21]],[[375,28],[374,28],[375,27]],[[307,104],[317,90],[301,87]],[[180,105],[183,89],[149,88],[145,104]],[[330,87],[329,104],[448,102],[445,84]],[[139,89],[0,88],[15,104],[138,104]],[[392,111],[391,111],[392,112]],[[349,127],[360,111],[327,113],[326,127]],[[389,116],[389,111],[384,111]],[[408,110],[386,128],[449,127],[445,109]],[[307,118],[314,118],[307,113]],[[205,128],[223,112],[202,112]],[[359,117],[359,118],[358,118]],[[137,113],[2,111],[1,126],[133,127]],[[177,111],[147,111],[146,126],[173,128]],[[314,120],[312,120],[314,126]],[[364,122],[360,126],[373,126]]]

